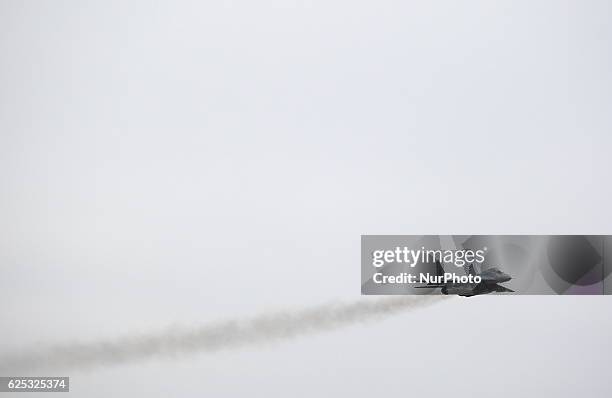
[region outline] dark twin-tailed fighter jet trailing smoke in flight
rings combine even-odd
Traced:
[[[447,282],[442,284],[427,284],[425,286],[416,286],[417,288],[441,288],[440,292],[442,294],[456,294],[458,296],[471,297],[479,294],[488,294],[488,293],[508,293],[514,292],[514,290],[508,289],[505,286],[499,285],[503,282],[508,282],[512,277],[498,268],[491,267],[488,268],[481,273],[477,274],[474,270],[474,265],[470,264],[465,267],[465,273],[469,276],[479,276],[479,283],[453,283]],[[438,276],[443,276],[444,267],[440,264],[439,261],[436,261],[436,274]]]

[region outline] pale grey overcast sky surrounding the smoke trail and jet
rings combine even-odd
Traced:
[[[611,17],[0,0],[0,352],[359,299],[361,234],[612,233]],[[611,309],[454,299],[71,391],[604,397]]]

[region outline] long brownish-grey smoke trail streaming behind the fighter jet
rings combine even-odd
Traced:
[[[21,354],[0,355],[0,374],[38,369],[83,369],[153,357],[267,344],[424,307],[440,299],[440,296],[362,299],[354,303],[332,303],[298,311],[263,314],[192,329],[87,344],[51,346]]]

